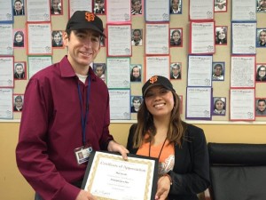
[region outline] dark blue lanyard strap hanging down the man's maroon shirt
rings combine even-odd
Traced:
[[[79,99],[80,99],[80,105],[81,105],[81,114],[82,114],[82,143],[83,143],[83,145],[85,145],[85,143],[86,143],[86,123],[87,123],[87,116],[88,116],[88,113],[89,113],[90,76],[89,76],[89,85],[88,85],[88,91],[87,91],[85,115],[83,115],[84,108],[83,108],[82,92],[81,92],[80,84],[78,84],[78,92],[79,92]]]

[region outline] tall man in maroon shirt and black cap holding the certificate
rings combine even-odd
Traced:
[[[90,67],[103,31],[95,14],[74,12],[63,34],[67,55],[27,84],[16,157],[35,199],[94,200],[80,189],[90,149],[120,152],[127,159],[129,151],[109,133],[106,84]]]

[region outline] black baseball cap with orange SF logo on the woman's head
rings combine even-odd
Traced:
[[[164,76],[152,76],[142,87],[142,95],[145,97],[145,93],[153,86],[161,85],[169,91],[176,92],[173,84]]]

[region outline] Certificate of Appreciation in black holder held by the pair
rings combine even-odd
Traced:
[[[82,182],[82,189],[98,199],[150,200],[157,188],[158,159],[93,151]]]

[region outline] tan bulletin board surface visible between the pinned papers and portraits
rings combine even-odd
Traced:
[[[66,28],[66,22],[68,20],[68,1],[62,0],[63,2],[63,14],[51,15],[51,29],[62,30]],[[231,78],[231,1],[227,0],[227,9],[225,12],[215,12],[214,20],[215,26],[226,27],[227,28],[227,44],[226,45],[215,45],[215,53],[213,54],[213,62],[222,62],[224,64],[224,80],[214,81],[212,84],[213,97],[223,97],[226,100],[226,112],[223,116],[212,116],[211,122],[230,122],[230,78]],[[170,14],[169,28],[175,28],[182,30],[182,45],[177,47],[169,48],[170,63],[178,62],[181,65],[182,78],[177,80],[171,80],[174,85],[176,93],[181,96],[182,99],[182,118],[185,120],[185,108],[186,108],[186,88],[187,88],[187,66],[188,66],[188,55],[189,55],[189,45],[190,45],[190,19],[189,19],[189,1],[182,0],[182,10],[179,14]],[[216,2],[216,1],[215,1]],[[142,4],[145,5],[143,1]],[[104,22],[104,27],[106,28],[106,14],[98,15]],[[266,27],[266,12],[256,13],[256,26],[257,28]],[[13,28],[25,28],[26,26],[26,15],[15,16]],[[132,15],[130,21],[132,29],[139,28],[143,30],[143,41],[145,42],[145,14],[142,15]],[[243,30],[245,31],[245,30]],[[58,62],[66,55],[66,48],[53,48],[52,50],[52,62]],[[257,63],[266,63],[266,48],[257,48],[255,53],[255,60]],[[23,61],[27,66],[27,50],[24,49],[14,49],[14,61]],[[101,47],[95,63],[106,63],[106,46]],[[143,45],[132,46],[132,56],[130,57],[130,64],[141,65],[145,69],[145,43]],[[130,72],[129,72],[130,73]],[[15,80],[13,93],[23,94],[25,92],[27,80]],[[145,83],[145,76],[142,73],[142,81],[131,83],[130,92],[132,96],[142,96],[141,88]],[[265,83],[255,84],[255,98],[266,99]],[[20,120],[21,112],[13,113],[13,120]],[[137,114],[131,113],[131,121],[136,121]],[[12,120],[10,120],[12,121]],[[266,121],[266,117],[255,117],[255,122]],[[122,123],[123,121],[120,121]],[[125,122],[130,122],[126,121]],[[204,122],[202,122],[204,123]]]

